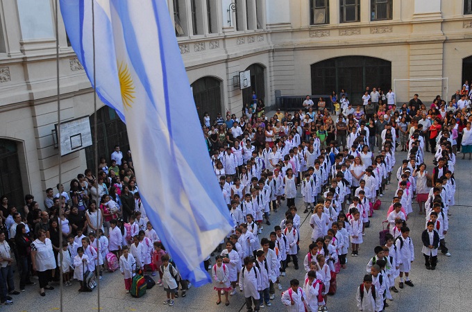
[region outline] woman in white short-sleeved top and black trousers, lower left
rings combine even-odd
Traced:
[[[53,244],[51,240],[46,237],[44,229],[37,232],[37,239],[31,243],[31,262],[33,270],[37,272],[37,277],[40,281],[40,295],[46,295],[44,289],[53,290],[49,286],[49,279],[51,279],[51,270],[56,268],[56,259],[54,259]]]

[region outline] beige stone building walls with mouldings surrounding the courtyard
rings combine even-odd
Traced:
[[[27,23],[27,17],[35,12],[27,10],[28,1],[34,0],[0,3],[4,46],[0,44],[0,138],[19,142],[24,193],[33,193],[42,202],[45,189],[55,187],[59,180],[58,149],[51,134],[57,123],[56,40],[50,28],[46,32],[31,29],[34,25]],[[250,19],[242,31],[235,27],[235,12],[228,12],[232,1],[212,0],[212,33],[207,29],[207,1],[199,0],[198,35],[193,35],[188,14],[190,1],[177,1],[185,28],[178,44],[189,83],[205,76],[221,80],[223,113],[241,112],[242,91],[233,78],[251,64],[265,69],[267,105],[275,104],[276,90],[287,96],[311,94],[310,66],[346,55],[389,60],[392,80],[448,77],[448,86],[426,80],[398,84],[399,101],[419,93],[430,103],[438,92],[450,98],[462,85],[462,59],[472,55],[472,15],[463,15],[462,0],[394,0],[393,18],[387,21],[370,21],[371,0],[360,0],[360,21],[346,24],[339,24],[339,0],[330,0],[330,24],[317,26],[310,25],[309,0],[233,1],[244,11],[244,19],[246,15]],[[53,20],[55,1],[41,3],[37,14]],[[168,3],[174,19],[174,1]],[[24,7],[18,10],[18,6]],[[94,112],[90,83],[67,46],[62,23],[58,37],[61,120],[89,116]],[[62,157],[61,162],[61,180],[68,184],[85,170],[85,152]]]

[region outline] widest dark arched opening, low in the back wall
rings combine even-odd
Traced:
[[[337,94],[341,89],[348,93],[353,104],[362,103],[367,86],[381,87],[388,92],[391,87],[391,62],[368,56],[342,56],[311,65],[312,94]]]

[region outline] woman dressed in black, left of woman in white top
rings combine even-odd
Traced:
[[[17,225],[17,234],[15,235],[15,244],[18,252],[19,267],[19,290],[24,291],[24,286],[35,285],[30,280],[31,275],[31,239],[26,234],[24,224]]]

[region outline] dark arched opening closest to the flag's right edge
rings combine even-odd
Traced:
[[[196,80],[191,87],[200,122],[203,123],[203,116],[208,112],[213,123],[217,114],[221,113],[221,80],[206,76]]]

